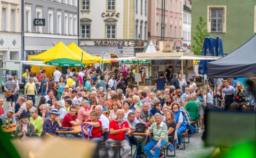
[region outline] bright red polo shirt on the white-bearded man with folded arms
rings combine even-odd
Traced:
[[[113,128],[114,130],[123,129],[123,128],[129,128],[129,123],[127,121],[123,121],[121,123],[121,126],[119,126],[119,123],[117,119],[110,121],[109,123],[109,130]],[[124,140],[125,139],[125,131],[121,131],[118,134],[111,135],[109,132],[108,138],[114,139],[114,140]]]

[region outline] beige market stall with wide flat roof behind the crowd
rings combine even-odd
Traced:
[[[193,60],[217,60],[219,56],[201,56],[194,55],[194,52],[170,52],[170,53],[137,53],[135,57],[123,57],[118,59],[111,59],[116,61],[137,61],[137,68],[139,68],[139,61],[145,60],[146,64],[146,79],[143,82],[135,82],[133,86],[138,89],[149,87],[151,91],[155,91],[155,81],[161,73],[164,74],[167,66],[172,65],[174,72],[181,73],[183,78],[186,78],[185,72],[193,66]],[[137,70],[139,72],[139,70]],[[201,79],[201,80],[199,80]],[[136,78],[135,78],[136,80]],[[138,80],[137,80],[138,81]],[[198,87],[205,85],[202,78],[196,80]],[[170,87],[170,86],[169,86]],[[168,86],[166,87],[168,88]]]

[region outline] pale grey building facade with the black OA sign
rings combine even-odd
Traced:
[[[78,0],[25,0],[24,60],[59,41],[65,45],[78,44],[77,26]]]

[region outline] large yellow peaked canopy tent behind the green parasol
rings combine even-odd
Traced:
[[[52,47],[51,49],[35,55],[30,56],[29,61],[42,61],[45,63],[46,61],[53,60],[53,59],[60,59],[60,58],[68,58],[73,59],[76,61],[81,61],[82,55],[78,55],[71,51],[65,44],[63,44],[61,41]],[[85,59],[86,61],[86,59]],[[82,61],[83,62],[83,61]],[[51,76],[55,66],[43,66],[42,70],[46,70],[47,77]],[[41,70],[41,66],[31,66],[31,72],[38,72],[38,70]],[[61,71],[61,66],[59,67],[59,70]]]

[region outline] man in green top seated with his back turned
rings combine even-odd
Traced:
[[[192,99],[191,95],[186,96],[187,104],[185,109],[188,111],[190,115],[191,121],[195,121],[198,119],[198,106],[197,103]]]

